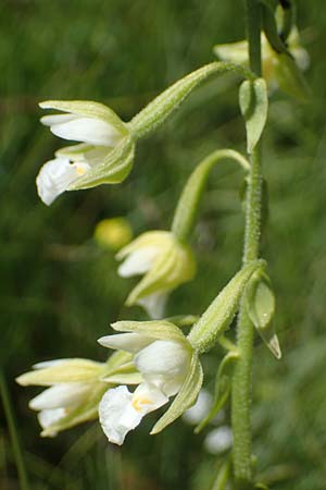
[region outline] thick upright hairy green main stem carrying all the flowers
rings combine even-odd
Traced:
[[[261,7],[259,0],[246,0],[250,68],[261,75]],[[243,265],[259,256],[261,234],[261,149],[251,155],[251,171],[246,199]],[[240,306],[237,326],[239,360],[235,366],[231,388],[231,422],[234,431],[234,473],[238,488],[252,488],[251,375],[254,327],[244,305]]]

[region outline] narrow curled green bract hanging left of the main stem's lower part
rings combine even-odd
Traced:
[[[239,354],[236,351],[229,352],[223,358],[216,373],[214,400],[212,407],[206,417],[196,427],[195,429],[196,433],[200,432],[226,404],[230,394],[234,366],[238,358]]]

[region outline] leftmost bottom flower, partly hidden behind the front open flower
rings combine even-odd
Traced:
[[[108,363],[55,359],[39,363],[34,370],[20,376],[16,381],[23,387],[49,387],[29,402],[29,407],[38,412],[41,436],[54,437],[62,430],[97,418],[99,402],[114,382],[121,379],[139,382],[135,369],[134,372],[129,369],[127,375],[120,373],[121,367],[123,371],[129,367],[129,360],[126,353],[116,353]]]

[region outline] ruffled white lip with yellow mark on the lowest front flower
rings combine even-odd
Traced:
[[[148,383],[140,384],[131,394],[127,387],[108,390],[99,405],[102,429],[110,442],[121,445],[126,434],[137,427],[149,412],[164,405],[168,399]]]

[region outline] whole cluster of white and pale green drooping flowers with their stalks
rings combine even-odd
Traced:
[[[265,46],[264,39],[263,42]],[[131,170],[137,139],[161,124],[208,76],[227,71],[240,72],[249,78],[254,76],[248,70],[241,71],[241,64],[246,64],[242,45],[221,46],[215,50],[220,57],[237,61],[240,66],[213,62],[197,70],[161,94],[128,123],[98,102],[42,102],[41,108],[60,113],[46,115],[41,122],[54,135],[78,143],[58,150],[55,158],[40,169],[36,182],[42,201],[50,205],[65,191],[122,182]],[[302,50],[297,54],[302,59]],[[265,70],[271,75],[271,66],[278,63],[274,59],[276,54],[265,47],[264,57]],[[246,159],[235,154],[226,150],[222,156],[231,157],[246,168]],[[143,306],[152,320],[113,323],[113,329],[123,333],[99,339],[101,345],[116,351],[106,363],[79,358],[45,362],[17,378],[22,385],[49,387],[29,403],[30,408],[38,412],[42,436],[55,436],[99,416],[108,439],[122,444],[126,433],[138,426],[145,415],[165,405],[171,397],[175,396],[173,403],[151,433],[160,432],[196,402],[203,380],[200,354],[211,348],[230,324],[249,279],[264,267],[260,260],[243,267],[187,336],[177,322],[162,319],[167,295],[191,280],[196,272],[192,252],[184,240],[187,233],[178,233],[178,224],[185,228],[186,223],[187,231],[191,229],[198,196],[211,163],[212,159],[204,161],[198,168],[201,173],[189,179],[172,231],[143,233],[117,254],[117,258],[124,260],[118,268],[122,277],[145,274],[126,304]],[[264,291],[260,290],[264,297],[271,295],[267,287],[264,285]],[[255,311],[252,318],[259,328],[258,317]],[[273,348],[277,353],[277,338],[272,334]],[[234,346],[231,350],[235,351]],[[129,392],[128,385],[137,388]],[[229,436],[227,440],[229,443]]]

